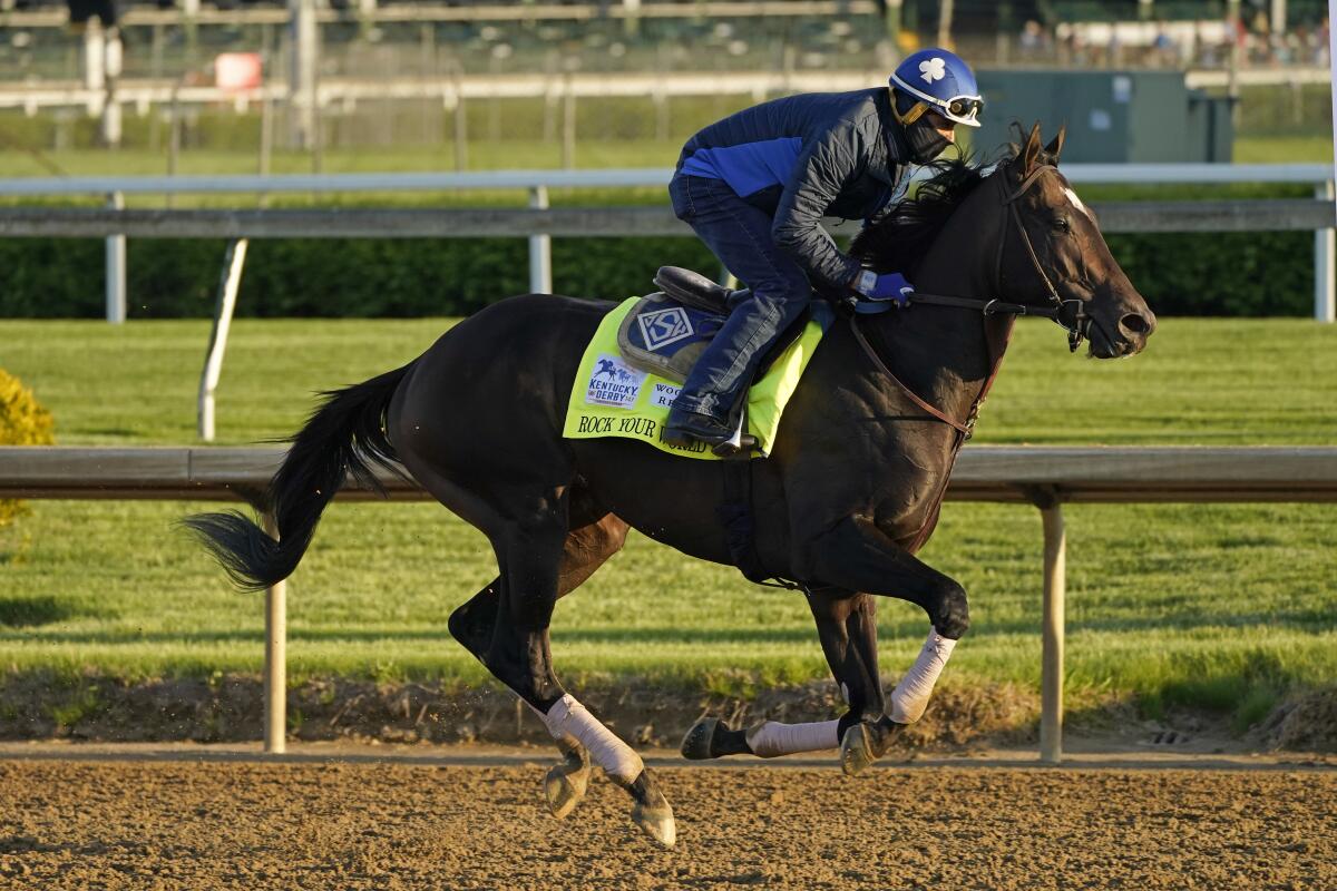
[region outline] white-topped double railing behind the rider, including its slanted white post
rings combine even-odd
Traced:
[[[1305,183],[1314,199],[1116,202],[1096,203],[1104,231],[1265,231],[1314,232],[1314,318],[1337,313],[1337,236],[1332,168],[1325,164],[1067,164],[1074,183]],[[529,242],[529,290],[552,290],[554,235],[690,235],[664,206],[548,206],[550,188],[663,187],[673,171],[497,171],[479,174],[342,174],[283,176],[88,176],[0,180],[0,198],[108,195],[106,210],[3,207],[0,236],[104,238],[107,243],[107,321],[126,321],[126,236],[227,238],[214,327],[198,397],[198,429],[214,438],[215,389],[227,331],[237,305],[249,238],[479,238],[516,236]],[[182,194],[338,194],[525,190],[527,208],[475,210],[142,210],[124,208],[126,195]],[[834,232],[854,224],[828,220]]]

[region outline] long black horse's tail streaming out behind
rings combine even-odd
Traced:
[[[183,520],[229,577],[245,590],[259,590],[287,578],[312,544],[325,505],[345,476],[384,494],[374,466],[397,472],[394,446],[385,437],[385,411],[400,381],[413,365],[370,381],[324,393],[325,402],[293,437],[293,448],[269,482],[269,506],[278,521],[278,541],[241,512],[202,513]]]

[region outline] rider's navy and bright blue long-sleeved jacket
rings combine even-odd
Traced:
[[[729,183],[771,215],[775,244],[814,285],[844,293],[860,264],[837,250],[821,219],[884,215],[908,158],[890,91],[877,87],[745,108],[689,139],[678,171]]]

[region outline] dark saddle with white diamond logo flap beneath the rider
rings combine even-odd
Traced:
[[[751,291],[729,290],[678,266],[660,266],[654,283],[660,290],[640,298],[622,321],[618,350],[631,367],[682,383],[733,309]],[[802,334],[809,317],[810,310],[804,311],[766,350],[757,378]]]

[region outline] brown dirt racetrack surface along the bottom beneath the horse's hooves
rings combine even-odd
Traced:
[[[0,752],[3,888],[1337,888],[1337,769],[1211,760],[656,764],[678,848],[602,776],[548,816],[545,752],[258,763]],[[1182,765],[1189,765],[1182,767]]]

